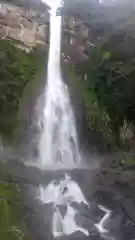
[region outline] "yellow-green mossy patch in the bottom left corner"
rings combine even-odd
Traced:
[[[28,240],[25,224],[16,213],[19,200],[19,185],[0,183],[0,239]]]

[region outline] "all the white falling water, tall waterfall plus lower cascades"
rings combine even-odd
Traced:
[[[57,6],[58,7],[58,6]],[[79,185],[71,179],[65,169],[77,168],[81,163],[78,147],[78,138],[75,126],[75,117],[70,103],[68,88],[61,78],[60,46],[61,46],[61,16],[56,15],[56,6],[50,10],[50,49],[48,60],[48,77],[45,93],[43,128],[39,144],[40,164],[53,169],[63,166],[65,178],[59,182],[53,180],[47,187],[40,188],[40,200],[43,204],[52,203],[54,214],[52,219],[52,232],[54,237],[70,235],[76,231],[89,236],[89,231],[78,226],[75,221],[77,210],[72,203],[89,203],[83,196]],[[59,207],[66,207],[62,216]],[[100,223],[95,224],[99,232],[106,233],[105,221],[111,212],[105,212]]]

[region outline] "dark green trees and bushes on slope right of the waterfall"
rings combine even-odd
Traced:
[[[134,56],[135,31],[121,29],[100,39],[84,66],[73,64],[79,76],[76,92],[83,98],[89,127],[118,145],[124,122],[135,127]]]

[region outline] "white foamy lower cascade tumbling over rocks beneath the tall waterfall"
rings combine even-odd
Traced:
[[[52,203],[55,209],[52,226],[54,237],[70,235],[76,231],[81,231],[86,236],[89,235],[88,230],[77,226],[75,222],[77,211],[71,206],[71,203],[84,203],[87,206],[89,206],[89,204],[83,196],[78,184],[67,174],[65,175],[65,179],[61,180],[60,183],[56,184],[55,181],[52,181],[45,189],[41,187],[40,192],[40,200],[46,204]],[[60,205],[67,207],[64,218],[62,218],[59,211]]]

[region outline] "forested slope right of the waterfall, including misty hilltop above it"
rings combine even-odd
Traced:
[[[80,17],[97,34],[95,47],[88,51],[88,60],[84,65],[74,63],[78,75],[83,79],[87,75],[87,82],[76,81],[81,85],[80,95],[84,96],[86,122],[107,141],[131,148],[135,127],[134,13],[132,0],[119,0],[115,4],[65,1],[63,9],[63,14]]]

